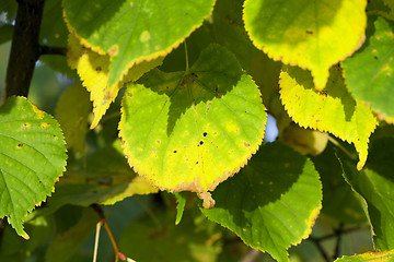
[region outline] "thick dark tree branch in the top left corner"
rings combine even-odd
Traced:
[[[12,95],[26,96],[39,56],[39,27],[45,0],[18,0],[18,12],[7,69],[2,102]]]

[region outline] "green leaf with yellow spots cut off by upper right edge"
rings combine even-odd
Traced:
[[[356,99],[394,123],[394,22],[369,16],[366,45],[343,62],[345,81]]]

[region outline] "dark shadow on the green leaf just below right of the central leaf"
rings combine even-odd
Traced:
[[[280,142],[265,144],[240,174],[213,191],[215,209],[228,210],[237,226],[247,227],[242,214],[280,200],[302,175],[305,160]]]

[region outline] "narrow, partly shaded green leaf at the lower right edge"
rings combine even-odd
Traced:
[[[381,251],[394,249],[393,155],[394,138],[385,138],[373,141],[362,171],[340,158],[347,182],[367,201],[374,246]]]

